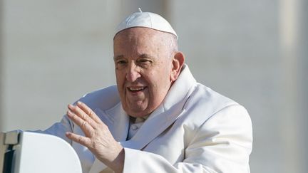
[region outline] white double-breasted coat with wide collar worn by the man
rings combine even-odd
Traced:
[[[250,116],[242,105],[197,83],[188,65],[163,103],[130,140],[130,118],[115,85],[89,93],[80,101],[96,112],[124,147],[123,172],[250,172]],[[43,132],[69,142],[81,159],[83,172],[105,172],[106,165],[88,148],[65,137],[67,131],[83,135],[66,115]]]

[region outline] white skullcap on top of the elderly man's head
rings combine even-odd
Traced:
[[[140,8],[139,11],[140,12],[135,12],[134,14],[131,14],[126,19],[124,19],[124,21],[122,21],[116,28],[116,34],[126,28],[145,27],[153,28],[158,31],[173,33],[178,39],[178,35],[173,30],[170,23],[162,16],[150,12],[143,12],[140,10]]]

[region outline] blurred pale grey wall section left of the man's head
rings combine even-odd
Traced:
[[[45,128],[114,83],[113,1],[4,1],[3,130]]]

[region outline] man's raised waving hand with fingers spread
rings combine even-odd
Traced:
[[[85,136],[66,132],[66,137],[88,147],[89,150],[115,172],[122,172],[124,149],[111,135],[107,125],[84,103],[68,105],[68,117],[76,123]]]

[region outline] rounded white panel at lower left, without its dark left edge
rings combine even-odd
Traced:
[[[81,173],[78,156],[59,137],[34,132],[21,132],[14,147],[14,173]]]

